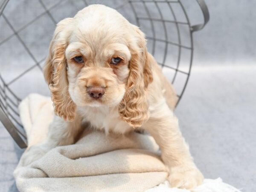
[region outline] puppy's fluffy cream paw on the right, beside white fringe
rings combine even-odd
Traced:
[[[203,180],[204,176],[196,166],[175,166],[170,169],[169,182],[172,187],[192,190]]]

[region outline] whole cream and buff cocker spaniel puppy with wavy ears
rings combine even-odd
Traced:
[[[202,183],[173,114],[175,91],[148,53],[143,32],[116,10],[91,5],[61,20],[44,76],[56,116],[47,142],[28,151],[26,164],[42,151],[73,144],[81,123],[89,122],[106,133],[147,130],[161,148],[171,186],[192,189]]]

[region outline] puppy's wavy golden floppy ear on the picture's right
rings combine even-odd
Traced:
[[[153,81],[151,62],[143,32],[133,25],[136,45],[131,45],[130,74],[126,93],[119,105],[121,119],[132,127],[140,127],[148,119],[147,87]]]

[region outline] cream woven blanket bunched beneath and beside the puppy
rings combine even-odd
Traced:
[[[43,142],[53,119],[50,98],[29,95],[20,104],[20,118],[28,146]],[[85,131],[76,144],[56,147],[29,166],[22,165],[22,156],[14,176],[21,192],[186,192],[164,182],[168,173],[157,151],[148,135],[114,137]],[[221,185],[223,190],[216,190]],[[236,191],[228,187],[220,179],[205,180],[195,191]]]

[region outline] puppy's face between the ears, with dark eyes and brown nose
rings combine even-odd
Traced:
[[[117,106],[125,94],[131,52],[122,37],[115,41],[112,32],[93,26],[70,37],[65,51],[69,93],[77,106]]]

